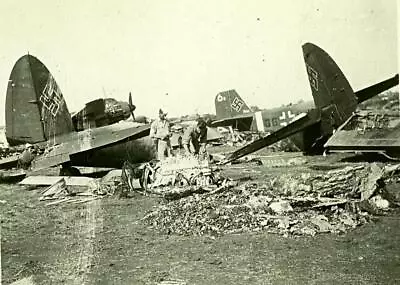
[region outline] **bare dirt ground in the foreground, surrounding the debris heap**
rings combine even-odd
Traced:
[[[311,160],[314,167],[334,167],[323,157]],[[226,173],[262,180],[302,167],[249,164]],[[31,275],[36,284],[400,283],[399,211],[342,235],[176,236],[141,220],[159,198],[45,206],[39,190],[0,185],[2,284]]]

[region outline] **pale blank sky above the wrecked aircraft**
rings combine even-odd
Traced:
[[[306,42],[358,90],[397,73],[396,12],[395,0],[1,0],[0,104],[27,52],[49,68],[70,111],[129,91],[136,114],[153,117],[159,107],[215,113],[227,89],[263,108],[311,100]]]

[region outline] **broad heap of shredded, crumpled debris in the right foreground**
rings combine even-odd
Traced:
[[[367,223],[369,213],[389,204],[378,196],[387,176],[374,164],[283,174],[263,184],[250,182],[229,191],[165,201],[144,221],[161,232],[182,235],[342,233]]]

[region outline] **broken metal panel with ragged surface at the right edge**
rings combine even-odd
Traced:
[[[329,151],[400,151],[398,112],[358,112],[326,142]]]

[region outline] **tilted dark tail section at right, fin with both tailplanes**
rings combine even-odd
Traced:
[[[359,103],[399,84],[399,75],[354,92],[335,61],[321,48],[306,43],[303,55],[315,107],[291,123],[226,157],[228,163],[284,138],[303,152],[322,153],[324,144],[356,111]],[[398,145],[400,146],[400,145]]]

